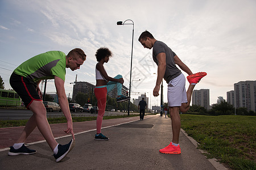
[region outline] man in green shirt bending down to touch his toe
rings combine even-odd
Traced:
[[[30,109],[33,114],[19,139],[10,147],[8,155],[36,153],[35,150],[30,150],[24,146],[28,135],[36,126],[46,139],[49,147],[51,147],[56,162],[60,162],[72,150],[73,146],[75,146],[75,134],[73,133],[72,117],[64,88],[65,68],[70,68],[72,71],[80,69],[85,59],[84,51],[79,48],[71,50],[67,56],[60,51],[51,51],[28,59],[14,70],[10,77],[11,87],[18,93],[27,109]],[[48,124],[46,108],[42,102],[42,93],[39,88],[42,79],[55,80],[61,111],[67,118],[67,129],[64,131],[67,134],[71,133],[73,138],[67,145],[59,145],[56,142]]]

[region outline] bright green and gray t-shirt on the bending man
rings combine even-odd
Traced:
[[[14,70],[14,73],[34,82],[42,79],[54,79],[54,76],[65,81],[65,56],[65,53],[60,51],[42,53],[23,62]]]

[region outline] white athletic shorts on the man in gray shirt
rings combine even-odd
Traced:
[[[181,103],[188,102],[185,82],[185,76],[181,73],[168,83],[168,107],[180,107]]]

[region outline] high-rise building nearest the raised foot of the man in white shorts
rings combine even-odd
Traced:
[[[205,109],[210,109],[210,90],[209,89],[200,89],[193,90],[192,93],[192,104],[200,105]]]

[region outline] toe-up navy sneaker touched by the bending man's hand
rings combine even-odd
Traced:
[[[68,152],[72,150],[72,148],[75,146],[75,141],[72,139],[67,145],[58,145],[58,152],[57,154],[53,154],[54,158],[56,159],[56,162],[60,162],[65,156],[68,155]]]

